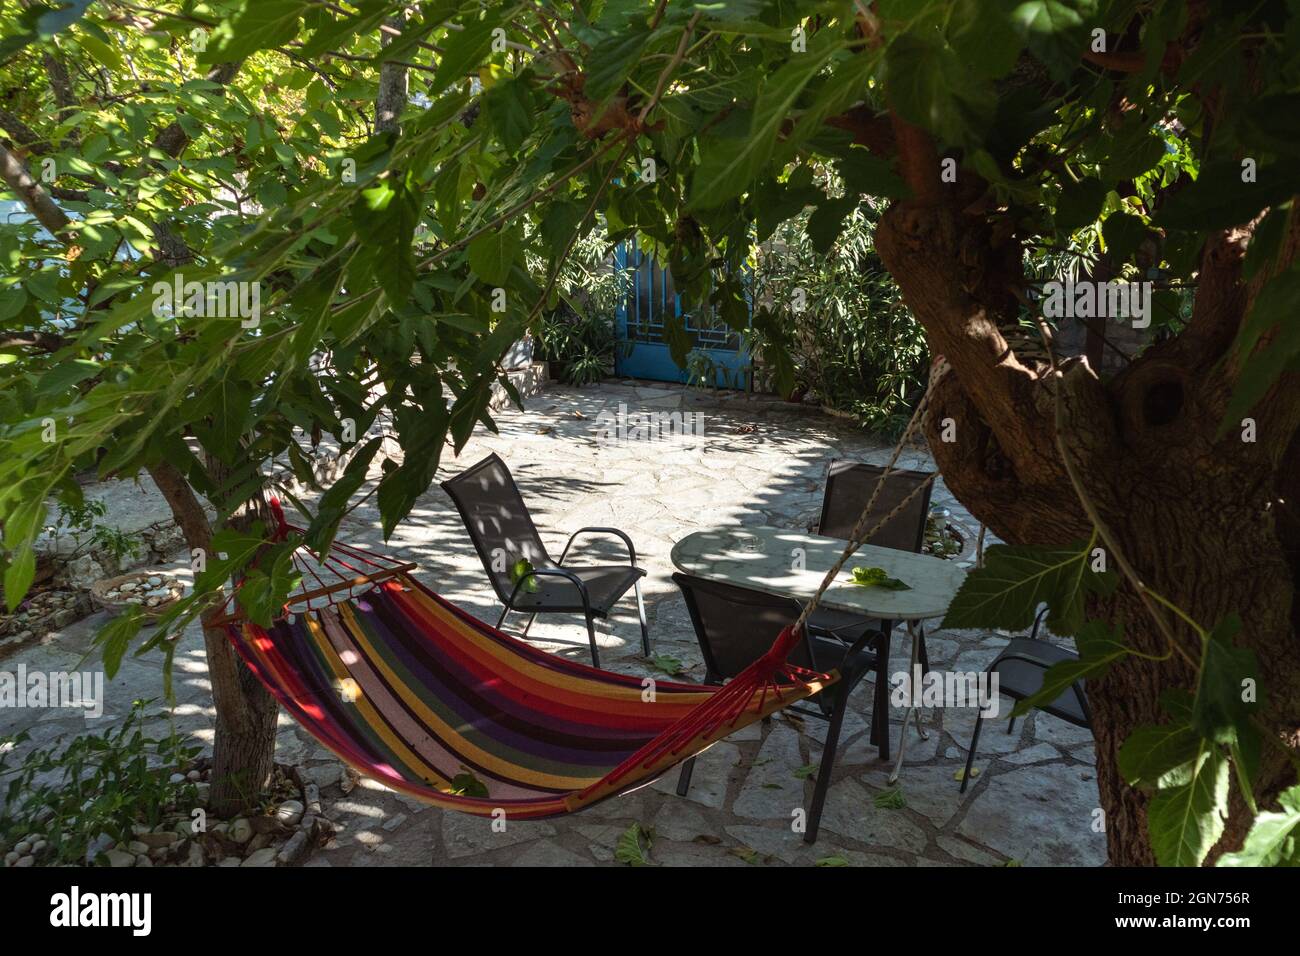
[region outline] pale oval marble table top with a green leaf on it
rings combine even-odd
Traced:
[[[745,527],[697,531],[672,549],[685,574],[740,588],[807,601],[848,542],[783,528]],[[854,567],[881,567],[911,591],[853,583]],[[822,606],[888,620],[941,617],[965,579],[956,562],[930,554],[862,545],[823,594]]]

